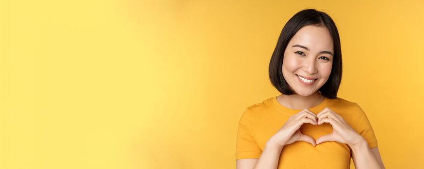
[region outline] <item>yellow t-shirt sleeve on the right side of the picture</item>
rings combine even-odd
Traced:
[[[370,148],[374,148],[377,146],[377,139],[375,138],[373,127],[362,108],[360,108],[358,104],[356,104],[356,106],[356,123],[358,124],[358,133],[368,142],[368,146]]]

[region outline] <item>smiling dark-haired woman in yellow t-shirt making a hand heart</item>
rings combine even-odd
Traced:
[[[237,169],[384,169],[371,124],[355,102],[337,98],[339,33],[324,12],[306,9],[284,26],[269,64],[282,94],[243,113]]]

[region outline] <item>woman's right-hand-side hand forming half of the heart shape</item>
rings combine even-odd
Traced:
[[[316,140],[317,144],[325,141],[337,141],[352,147],[363,140],[363,137],[350,127],[349,124],[343,120],[342,116],[334,113],[330,108],[326,107],[317,114],[317,117],[318,125],[329,123],[333,127],[333,132],[331,134],[321,136]]]

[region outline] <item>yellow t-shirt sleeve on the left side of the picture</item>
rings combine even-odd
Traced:
[[[251,127],[249,109],[246,108],[240,118],[237,131],[236,160],[242,158],[259,158],[262,154],[261,148],[259,148],[252,136]]]

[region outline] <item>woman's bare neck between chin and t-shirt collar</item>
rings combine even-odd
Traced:
[[[315,107],[319,105],[322,101],[324,101],[324,99],[326,99],[326,97],[321,95],[321,93],[318,93],[318,91],[309,96],[301,96],[298,94],[294,94],[294,95],[281,94],[280,96],[277,96],[278,102],[282,104],[283,106],[289,109],[299,109],[299,110]]]

